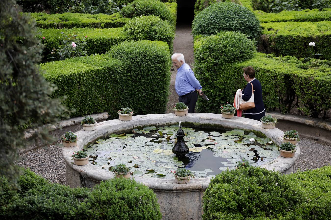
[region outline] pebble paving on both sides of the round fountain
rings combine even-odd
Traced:
[[[331,163],[331,145],[302,138],[301,154],[295,165],[295,171],[316,169]],[[49,179],[53,183],[66,183],[66,163],[57,144],[36,148],[20,154],[18,164],[29,167],[33,172]]]

